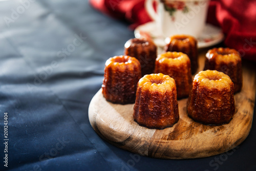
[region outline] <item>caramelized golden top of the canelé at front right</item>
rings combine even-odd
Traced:
[[[194,83],[207,89],[222,90],[223,88],[233,89],[233,82],[223,72],[216,70],[200,71],[194,78]]]

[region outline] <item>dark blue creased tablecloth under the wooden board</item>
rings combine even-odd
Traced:
[[[190,160],[138,157],[94,132],[88,106],[134,37],[127,24],[79,0],[0,1],[0,16],[0,170],[256,170],[255,121],[229,153]]]

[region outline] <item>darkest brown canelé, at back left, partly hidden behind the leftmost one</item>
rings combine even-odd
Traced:
[[[154,72],[157,47],[152,40],[146,38],[132,38],[126,41],[124,45],[124,55],[135,57],[140,61],[142,76]]]

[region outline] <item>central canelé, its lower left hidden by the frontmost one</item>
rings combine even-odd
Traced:
[[[192,88],[190,60],[182,52],[166,52],[158,55],[155,73],[162,73],[174,78],[177,87],[177,98],[187,97]]]

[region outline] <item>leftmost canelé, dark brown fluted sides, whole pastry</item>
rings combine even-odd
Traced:
[[[131,56],[114,56],[105,62],[102,93],[113,103],[134,103],[141,78],[140,62]]]

